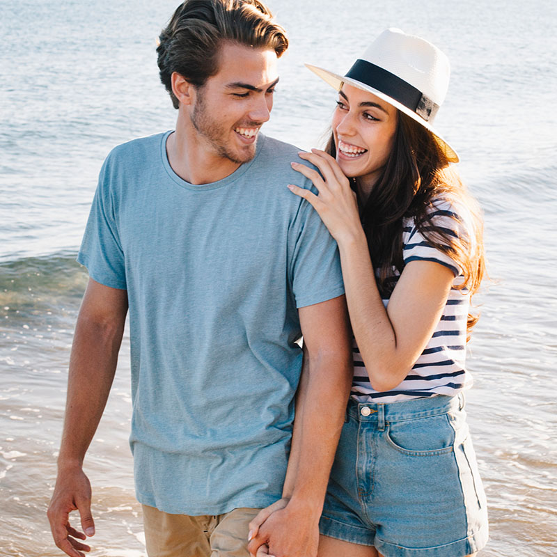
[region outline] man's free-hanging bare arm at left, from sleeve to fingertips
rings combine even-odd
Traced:
[[[58,477],[48,510],[54,542],[71,557],[83,557],[81,551],[90,549],[74,538],[95,533],[91,485],[82,465],[107,403],[126,313],[126,290],[89,279],[75,327]],[[85,533],[70,526],[72,510],[79,510]]]

